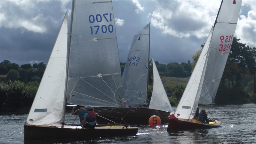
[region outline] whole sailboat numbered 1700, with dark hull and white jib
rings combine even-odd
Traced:
[[[135,135],[137,127],[96,125],[95,129],[82,129],[80,125],[65,124],[66,95],[68,103],[76,105],[85,106],[85,102],[89,101],[90,104],[94,102],[100,106],[122,106],[122,91],[118,89],[122,83],[111,0],[73,0],[69,49],[67,37],[66,13],[24,124],[24,140],[77,140]],[[96,86],[103,89],[97,89]],[[105,89],[107,86],[113,93],[111,97],[100,100],[100,96],[106,97],[110,91]],[[88,93],[83,93],[84,90]],[[101,95],[96,97],[99,92]]]

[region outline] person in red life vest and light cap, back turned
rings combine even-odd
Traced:
[[[96,114],[90,105],[85,106],[84,108],[87,112],[84,114],[82,128],[93,129],[96,126]]]

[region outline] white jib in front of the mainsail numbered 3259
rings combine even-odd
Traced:
[[[213,27],[206,40],[206,43],[204,44],[204,48],[196,62],[196,66],[188,80],[188,84],[174,113],[174,115],[178,118],[190,119],[195,116],[198,100],[202,89],[202,83],[204,80],[205,66],[207,62],[207,52],[209,50],[212,32]]]

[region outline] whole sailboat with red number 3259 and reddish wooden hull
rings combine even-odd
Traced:
[[[171,113],[167,131],[202,129],[220,126],[218,120],[204,124],[194,118],[199,100],[205,95],[214,100],[236,30],[241,0],[222,0],[217,18],[196,62],[175,112]],[[208,91],[206,91],[206,88]],[[210,101],[213,102],[213,101]]]

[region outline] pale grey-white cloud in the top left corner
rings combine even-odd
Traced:
[[[51,2],[40,0],[1,1],[0,27],[9,29],[20,28],[21,32],[26,30],[41,34],[50,32],[63,16],[57,19],[54,18],[50,12],[56,12],[49,10],[50,6],[48,3],[59,4],[59,6],[62,4],[60,1]]]

